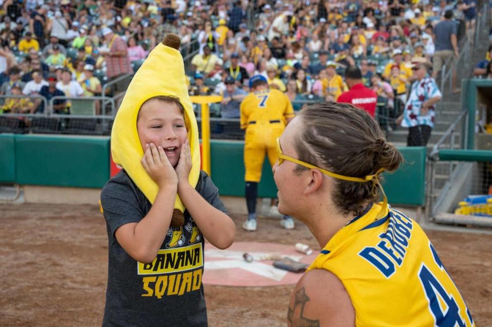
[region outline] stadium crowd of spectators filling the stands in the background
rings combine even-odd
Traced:
[[[253,75],[263,75],[300,110],[347,91],[348,66],[360,68],[384,115],[397,118],[415,80],[412,60],[433,61],[436,77],[443,60],[457,55],[456,43],[453,49],[435,43],[442,32],[436,25],[462,20],[471,31],[477,15],[475,0],[5,0],[1,6],[2,95],[100,95],[101,85],[138,69],[173,32],[191,60],[190,94],[223,94],[214,114],[225,118],[239,117]],[[485,60],[476,74],[490,75],[490,56]],[[69,113],[70,101],[60,101],[53,110]],[[43,112],[37,102],[6,99],[3,111]]]

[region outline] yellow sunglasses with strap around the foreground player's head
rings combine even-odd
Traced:
[[[299,159],[296,159],[296,158],[293,158],[293,157],[290,157],[288,155],[283,154],[282,148],[280,147],[280,138],[279,137],[277,137],[277,158],[278,158],[277,159],[278,160],[278,166],[280,166],[284,160],[287,160],[287,161],[294,162],[294,164],[301,165],[302,167],[306,167],[309,169],[317,169],[321,173],[328,175],[328,176],[331,176],[331,177],[334,177],[334,178],[337,178],[337,179],[343,179],[343,180],[348,180],[348,181],[358,181],[358,182],[362,182],[362,183],[369,182],[369,181],[372,182],[374,195],[376,195],[378,187],[381,189],[381,192],[383,194],[383,207],[381,208],[381,211],[379,212],[377,219],[382,218],[384,211],[385,211],[385,208],[386,208],[386,205],[388,203],[388,199],[386,198],[386,194],[384,194],[383,187],[381,186],[381,183],[379,182],[379,176],[378,175],[384,171],[384,168],[381,168],[380,170],[378,170],[376,172],[376,174],[367,175],[364,178],[339,175],[339,174],[333,173],[331,171],[327,171],[325,169],[322,169],[322,168],[316,167],[314,165],[308,164],[308,162],[304,162],[304,161],[301,161]]]

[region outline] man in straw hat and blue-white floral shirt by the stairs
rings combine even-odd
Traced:
[[[442,97],[428,70],[432,64],[423,57],[412,59],[415,81],[412,84],[403,114],[397,124],[408,128],[407,146],[425,147],[434,128],[435,105]]]

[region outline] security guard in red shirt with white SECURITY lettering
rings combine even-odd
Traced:
[[[345,69],[345,83],[350,90],[340,94],[337,102],[352,104],[374,117],[378,95],[364,86],[362,73],[357,66],[349,66]]]

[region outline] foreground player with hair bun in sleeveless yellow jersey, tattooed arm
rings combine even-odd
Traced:
[[[277,149],[278,210],[323,249],[294,289],[289,326],[475,326],[419,224],[387,203],[379,175],[402,156],[370,115],[304,108]]]

